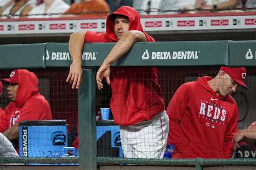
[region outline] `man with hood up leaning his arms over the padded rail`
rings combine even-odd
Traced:
[[[72,56],[66,81],[78,88],[82,76],[81,52],[84,42],[117,42],[99,68],[96,81],[111,85],[110,108],[114,123],[120,125],[120,137],[126,158],[163,158],[169,131],[163,93],[158,84],[156,67],[111,67],[135,42],[154,42],[140,23],[139,13],[122,6],[107,17],[106,32],[82,31],[70,36]]]

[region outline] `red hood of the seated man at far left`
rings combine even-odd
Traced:
[[[15,104],[21,108],[26,100],[38,93],[38,78],[33,72],[18,70],[18,85]]]

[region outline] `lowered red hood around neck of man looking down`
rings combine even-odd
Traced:
[[[202,78],[198,78],[197,79],[197,83],[204,87],[204,89],[206,89],[208,92],[210,92],[215,98],[219,98],[221,100],[226,100],[230,94],[227,94],[226,96],[221,96],[221,95],[217,95],[213,90],[212,88],[209,86],[208,82],[207,81],[210,81],[212,80],[213,78],[212,77],[209,77],[209,76],[204,76]]]

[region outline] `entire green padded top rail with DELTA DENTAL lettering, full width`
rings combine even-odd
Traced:
[[[85,67],[103,63],[115,43],[86,43]],[[69,67],[68,43],[0,45],[0,69]],[[112,66],[256,66],[256,41],[137,42]]]

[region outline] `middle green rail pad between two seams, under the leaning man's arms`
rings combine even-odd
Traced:
[[[100,66],[115,43],[86,43],[82,65]],[[46,67],[69,66],[68,43],[46,44]],[[228,65],[228,41],[135,43],[112,66]]]

